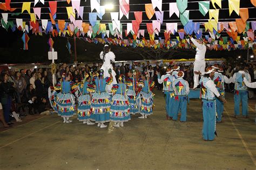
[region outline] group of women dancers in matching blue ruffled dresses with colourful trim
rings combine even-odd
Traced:
[[[106,128],[104,123],[107,122],[123,127],[124,122],[131,120],[130,114],[141,114],[139,118],[147,118],[153,113],[154,94],[151,90],[154,82],[147,80],[146,73],[138,82],[136,72],[132,70],[128,79],[120,75],[119,83],[112,84],[111,91],[107,91],[106,86],[113,82],[111,69],[108,72],[110,76],[105,78],[103,69],[96,75],[86,74],[82,83],[72,83],[70,75],[64,74],[62,81],[49,89],[52,108],[63,117],[63,123],[72,122],[69,118],[75,115],[76,110],[78,121],[87,125],[97,123],[100,128]],[[75,96],[78,98],[77,109]]]

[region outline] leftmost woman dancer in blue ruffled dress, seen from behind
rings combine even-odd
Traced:
[[[55,98],[58,115],[63,117],[63,123],[72,122],[69,118],[75,113],[75,96],[71,93],[71,88],[75,90],[77,86],[70,82],[70,75],[63,74],[60,82],[60,93]]]

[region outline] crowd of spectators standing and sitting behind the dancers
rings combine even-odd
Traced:
[[[162,85],[157,81],[157,72],[160,75],[165,74],[167,68],[171,68],[176,63],[172,65],[163,65],[159,62],[151,65],[150,62],[133,62],[132,65],[122,62],[120,65],[113,63],[113,69],[116,72],[116,78],[120,74],[127,75],[129,70],[135,70],[137,72],[137,77],[143,72],[147,73],[150,80],[154,81],[156,84],[156,89],[161,90]],[[55,79],[57,82],[60,81],[62,75],[69,74],[73,82],[82,82],[85,73],[93,74],[102,65],[97,63],[92,63],[92,65],[66,65],[63,63],[59,65],[57,72],[55,74]],[[185,73],[184,79],[188,81],[190,87],[193,87],[193,63],[190,65],[180,64],[180,70]],[[235,72],[238,72],[238,65],[232,67],[231,65],[226,65],[225,62],[221,63],[221,67],[224,68],[224,74],[227,77],[233,76]],[[207,65],[206,65],[207,67]],[[256,81],[256,65],[247,65],[246,69],[251,75],[252,81]],[[38,68],[38,69],[21,69],[17,70],[3,70],[0,79],[0,96],[1,103],[3,106],[3,114],[0,112],[0,121],[3,122],[4,126],[6,123],[11,124],[10,114],[15,117],[15,113],[20,116],[26,116],[24,114],[25,108],[28,108],[28,113],[30,115],[40,114],[45,111],[46,108],[50,107],[48,104],[48,88],[52,86],[52,73],[50,68]],[[232,92],[234,84],[226,84],[226,91]],[[3,119],[4,115],[4,119]],[[19,118],[18,118],[19,120]],[[17,121],[17,119],[16,119]]]

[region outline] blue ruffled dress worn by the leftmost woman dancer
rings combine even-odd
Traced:
[[[61,83],[61,91],[55,97],[56,109],[61,117],[72,117],[75,112],[75,96],[71,93],[71,83]]]

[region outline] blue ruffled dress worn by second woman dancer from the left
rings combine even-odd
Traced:
[[[79,84],[82,94],[78,97],[77,119],[81,122],[95,121],[95,115],[91,112],[91,97],[89,91],[87,91],[87,84],[89,83]]]

